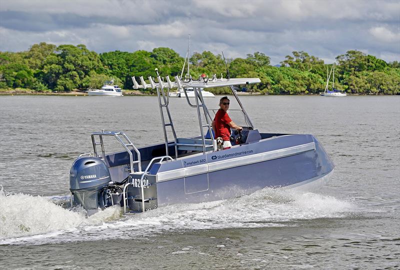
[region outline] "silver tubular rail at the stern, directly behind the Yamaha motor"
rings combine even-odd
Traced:
[[[95,136],[95,135],[97,135],[97,136],[100,137],[100,142],[99,142],[99,143],[98,143],[98,142],[95,142],[95,140],[94,140],[94,136]],[[130,141],[130,139],[125,135],[125,133],[123,133],[123,132],[120,132],[120,131],[104,131],[104,130],[102,130],[101,132],[93,132],[93,133],[91,133],[91,142],[93,143],[93,149],[94,149],[94,153],[95,153],[96,155],[98,155],[98,154],[97,154],[96,145],[101,144],[101,151],[102,151],[103,157],[105,158],[104,143],[103,143],[103,140],[102,140],[102,136],[103,136],[103,135],[114,136],[114,137],[118,140],[118,142],[123,146],[123,148],[125,148],[125,150],[128,152],[128,154],[129,154],[129,162],[130,162],[130,172],[131,172],[131,173],[134,172],[134,170],[133,170],[133,164],[137,164],[137,166],[138,166],[138,171],[141,171],[140,152],[139,152],[139,150],[136,148],[136,146],[133,145],[133,143]],[[121,140],[121,138],[120,138],[118,135],[123,136],[123,138],[124,138],[128,143],[125,144],[125,143]],[[136,154],[137,154],[137,160],[136,160],[136,161],[133,161],[133,154],[132,154],[132,152],[129,150],[128,146],[132,147],[133,150],[136,152]]]

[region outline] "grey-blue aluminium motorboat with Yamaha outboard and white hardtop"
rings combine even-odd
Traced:
[[[252,123],[233,86],[259,83],[259,78],[199,76],[182,80],[175,76],[148,81],[132,76],[133,88],[155,89],[164,141],[136,147],[122,131],[91,133],[93,151],[73,161],[69,172],[71,205],[82,205],[88,214],[112,205],[125,214],[139,213],[175,203],[221,200],[256,190],[295,188],[315,190],[330,179],[334,164],[312,134],[261,132]],[[229,148],[218,149],[201,88],[228,86],[236,99],[236,113],[246,126],[232,129]],[[169,91],[193,88],[194,100],[187,104],[196,111],[199,129],[190,137],[175,132],[169,110]],[[230,110],[232,111],[232,110]],[[194,119],[193,119],[194,120]],[[131,128],[131,127],[129,127]],[[107,152],[104,137],[113,137],[120,151]]]

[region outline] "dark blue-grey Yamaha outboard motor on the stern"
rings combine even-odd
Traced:
[[[73,201],[83,205],[88,214],[98,208],[120,204],[118,189],[121,188],[111,181],[104,160],[85,156],[72,163],[69,172],[69,190],[73,195]]]

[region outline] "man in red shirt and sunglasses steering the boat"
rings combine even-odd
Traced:
[[[231,147],[230,144],[230,128],[235,128],[236,130],[240,131],[243,128],[235,124],[232,119],[230,119],[229,115],[227,114],[227,110],[229,108],[229,98],[227,96],[222,96],[219,99],[219,109],[215,114],[214,120],[212,121],[212,130],[215,133],[215,139],[217,137],[221,137],[223,140],[222,148]]]

